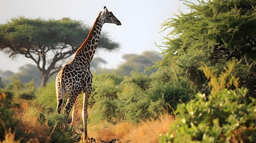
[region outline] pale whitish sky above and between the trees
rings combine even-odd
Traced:
[[[72,20],[81,20],[91,27],[98,12],[106,6],[122,25],[107,23],[103,25],[102,31],[108,32],[115,42],[121,44],[121,47],[111,52],[98,48],[95,56],[108,62],[102,65],[102,68],[117,68],[124,63],[121,58],[124,54],[160,51],[155,46],[155,42],[161,45],[162,36],[166,35],[167,31],[159,33],[161,28],[159,24],[173,17],[173,13],[178,14],[179,9],[189,12],[182,3],[179,0],[1,0],[0,24],[5,24],[11,18],[18,16],[45,20],[68,17]],[[84,36],[85,39],[86,37],[87,35]],[[26,63],[35,65],[31,59],[23,55],[12,59],[0,51],[0,69],[3,71],[18,72],[18,67]]]

